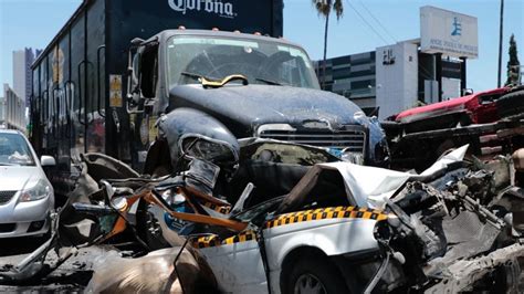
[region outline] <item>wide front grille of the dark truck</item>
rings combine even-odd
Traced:
[[[285,140],[297,144],[312,145],[325,148],[338,148],[364,154],[366,132],[364,127],[355,126],[352,129],[329,130],[329,129],[264,129],[259,133],[259,137]]]

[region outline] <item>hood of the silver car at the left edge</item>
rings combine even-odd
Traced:
[[[40,178],[45,176],[36,166],[0,166],[0,191],[20,191]]]

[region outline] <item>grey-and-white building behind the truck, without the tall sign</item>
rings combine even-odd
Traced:
[[[421,104],[460,97],[465,84],[461,84],[464,61],[423,53],[420,39],[328,59],[325,75],[323,61],[314,66],[324,90],[347,97],[380,119]]]

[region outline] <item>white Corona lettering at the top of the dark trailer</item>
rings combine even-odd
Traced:
[[[233,4],[221,0],[168,0],[169,7],[186,14],[188,10],[206,11],[220,17],[233,18]]]

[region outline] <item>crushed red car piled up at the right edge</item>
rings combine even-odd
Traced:
[[[381,126],[391,166],[423,169],[447,149],[464,144],[481,158],[511,154],[524,146],[523,117],[523,87],[502,87],[404,111]]]

